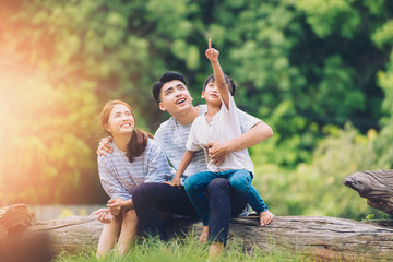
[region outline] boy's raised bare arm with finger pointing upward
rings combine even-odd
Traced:
[[[214,72],[215,82],[221,97],[224,100],[224,104],[227,109],[229,109],[229,90],[225,83],[225,76],[223,69],[218,62],[219,51],[212,48],[212,40],[209,39],[209,48],[205,52],[206,58],[211,61]]]

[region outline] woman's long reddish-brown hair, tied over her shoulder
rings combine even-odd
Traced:
[[[136,127],[136,119],[130,105],[122,100],[110,100],[104,106],[100,112],[100,120],[104,130],[105,130],[105,126],[108,123],[110,112],[116,105],[123,105],[128,109],[130,109],[131,115],[134,119],[134,124]],[[111,133],[108,132],[107,130],[105,130],[105,132],[107,132],[110,136],[112,136]],[[132,163],[135,159],[135,157],[142,155],[142,153],[146,148],[148,138],[153,139],[153,135],[151,133],[134,128],[134,130],[132,131],[131,140],[127,146],[127,157],[129,158],[130,163]]]

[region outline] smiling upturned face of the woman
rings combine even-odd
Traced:
[[[105,127],[106,131],[111,135],[129,134],[134,130],[135,119],[132,117],[130,109],[124,105],[114,106],[108,122]]]

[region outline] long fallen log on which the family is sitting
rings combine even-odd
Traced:
[[[103,224],[94,216],[69,216],[38,222],[28,234],[48,234],[53,254],[95,249]],[[201,223],[172,219],[167,223],[170,238],[202,230]],[[393,257],[393,225],[354,222],[323,216],[278,216],[267,226],[258,226],[257,216],[233,218],[230,238],[247,250],[259,247],[265,251],[289,249],[307,252],[321,260],[373,261]]]

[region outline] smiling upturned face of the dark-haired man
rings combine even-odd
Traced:
[[[170,115],[192,108],[192,97],[186,85],[179,80],[165,83],[160,90],[159,97],[159,109],[168,111]]]

